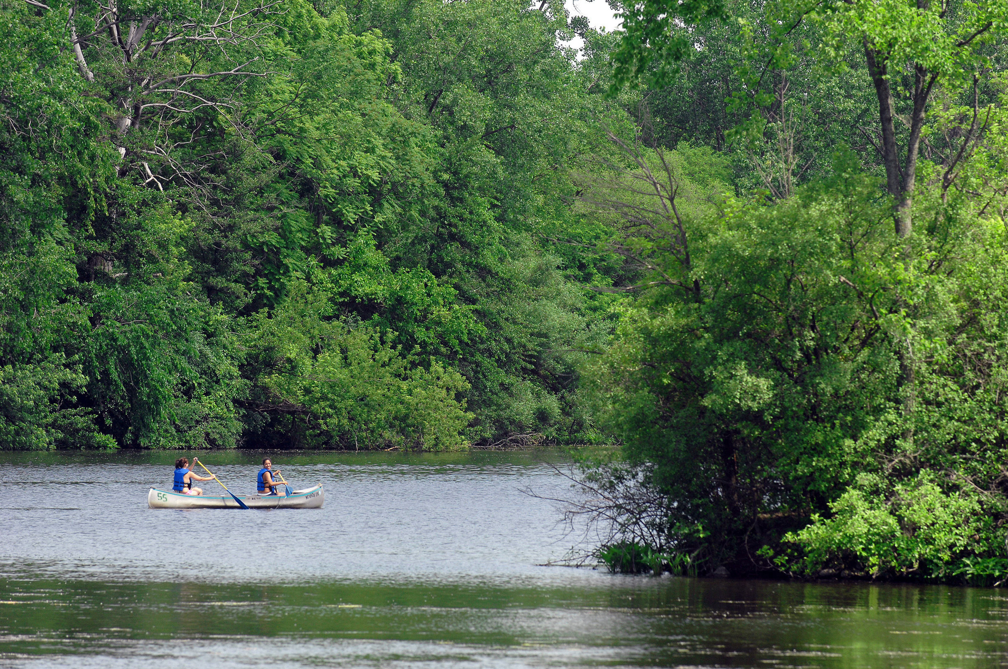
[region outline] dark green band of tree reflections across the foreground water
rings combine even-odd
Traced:
[[[211,655],[222,667],[989,667],[1006,650],[1004,599],[993,590],[937,586],[669,577],[541,588],[8,578],[0,599],[0,657],[12,666],[58,664],[72,654],[80,666],[95,657],[112,666],[174,666]],[[255,648],[278,659],[246,655]]]

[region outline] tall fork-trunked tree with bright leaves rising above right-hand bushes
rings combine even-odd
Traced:
[[[698,30],[703,33],[712,22],[732,20],[743,22],[749,37],[736,63],[736,108],[774,105],[775,73],[798,63],[799,52],[812,55],[824,74],[836,71],[839,63],[863,65],[877,109],[873,143],[885,168],[900,237],[912,231],[920,145],[935,96],[947,105],[965,103],[969,108],[958,130],[946,135],[947,145],[936,142],[943,178],[951,183],[964,156],[989,128],[984,88],[1002,68],[997,46],[1005,41],[1008,27],[1008,3],[1003,0],[768,2],[755,22],[743,5],[721,0],[645,0],[624,2],[622,7],[624,33],[613,55],[614,88],[640,77],[664,85],[692,51],[709,47],[697,41]],[[812,34],[802,34],[809,24]]]

